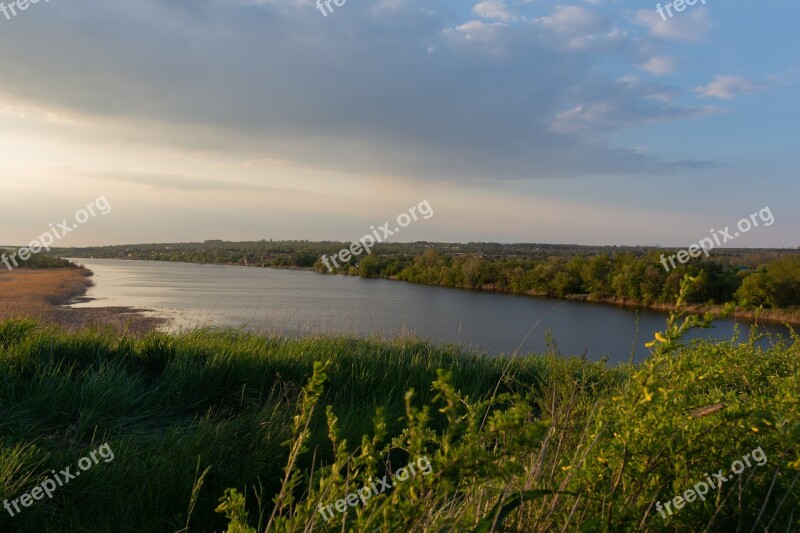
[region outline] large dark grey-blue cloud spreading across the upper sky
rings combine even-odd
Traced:
[[[603,136],[713,112],[606,72],[642,43],[594,7],[314,4],[50,3],[0,33],[0,93],[120,142],[437,182],[676,170]]]

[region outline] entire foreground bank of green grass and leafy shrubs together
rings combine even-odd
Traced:
[[[315,374],[315,361],[329,363]],[[770,520],[770,531],[793,531],[799,363],[798,339],[768,349],[676,345],[635,367],[607,368],[557,353],[509,362],[414,339],[230,330],[135,339],[6,322],[0,500],[101,444],[115,458],[16,517],[0,509],[0,530],[155,532],[188,523],[224,531],[229,520],[215,508],[235,488],[231,531],[246,531],[245,522],[263,530],[273,510],[270,527],[281,531],[342,530],[342,520],[355,531],[700,531],[709,523],[710,531],[749,531],[757,522],[764,531]],[[716,402],[725,408],[690,414]],[[378,408],[385,427],[374,422]],[[746,470],[733,493],[669,521],[652,508],[757,446],[767,465]],[[387,460],[396,471],[423,454],[435,475],[321,522],[319,503],[383,475]]]

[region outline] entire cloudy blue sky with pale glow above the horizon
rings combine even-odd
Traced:
[[[2,244],[800,246],[797,0],[9,3]]]

